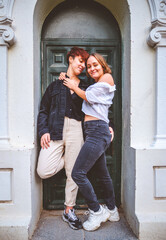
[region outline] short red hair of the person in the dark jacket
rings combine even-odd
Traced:
[[[72,47],[71,50],[67,53],[67,63],[69,64],[69,57],[72,57],[73,59],[76,56],[81,56],[82,59],[86,62],[86,60],[89,57],[89,53],[85,51],[83,48],[78,48],[78,47]]]

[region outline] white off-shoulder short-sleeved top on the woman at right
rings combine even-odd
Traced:
[[[88,102],[83,101],[82,111],[86,115],[96,117],[109,123],[108,109],[112,104],[116,86],[106,82],[97,82],[86,89]]]

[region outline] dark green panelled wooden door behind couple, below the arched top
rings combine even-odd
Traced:
[[[67,69],[66,55],[72,46],[83,47],[89,53],[98,52],[104,56],[112,69],[112,75],[117,87],[114,103],[109,111],[109,118],[114,123],[115,138],[106,152],[107,166],[113,179],[115,188],[116,204],[120,205],[121,192],[121,57],[120,42],[113,40],[82,40],[82,39],[47,39],[42,41],[42,94],[46,87],[58,79],[60,72]],[[86,80],[85,71],[80,75],[83,81]],[[95,177],[92,169],[90,178],[100,202],[103,202],[102,186]],[[65,198],[65,171],[43,181],[43,196],[45,209],[62,209]],[[85,201],[78,193],[77,208],[84,208]]]

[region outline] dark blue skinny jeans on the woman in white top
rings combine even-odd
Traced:
[[[98,211],[100,206],[87,173],[94,167],[97,177],[102,183],[105,203],[112,210],[115,208],[115,194],[107,165],[105,150],[111,142],[109,126],[102,120],[84,122],[85,143],[75,162],[72,178],[79,187],[88,207]]]

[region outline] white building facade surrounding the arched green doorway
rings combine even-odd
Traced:
[[[62,0],[0,1],[0,239],[27,240],[42,210],[36,173],[41,30]],[[96,0],[121,32],[121,206],[140,240],[166,236],[166,1]],[[15,238],[13,238],[13,236]]]

